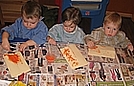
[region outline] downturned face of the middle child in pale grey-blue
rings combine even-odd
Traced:
[[[74,24],[72,21],[65,21],[63,23],[64,30],[68,33],[71,33],[75,30],[76,24]]]

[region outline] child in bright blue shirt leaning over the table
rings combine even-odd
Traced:
[[[26,2],[21,8],[21,15],[22,17],[18,18],[14,24],[1,30],[2,47],[8,51],[10,51],[9,40],[16,38],[27,39],[20,44],[20,51],[28,46],[43,44],[46,41],[48,28],[40,20],[40,5],[35,1]]]

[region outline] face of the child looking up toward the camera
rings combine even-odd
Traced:
[[[119,30],[118,26],[114,23],[103,24],[104,32],[107,36],[115,36]]]

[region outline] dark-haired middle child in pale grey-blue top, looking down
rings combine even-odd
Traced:
[[[78,8],[68,7],[62,12],[62,24],[56,24],[50,28],[47,40],[50,44],[56,42],[71,42],[84,44],[85,33],[78,24],[81,20],[81,12]]]

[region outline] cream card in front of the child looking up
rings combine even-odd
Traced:
[[[114,47],[96,45],[93,49],[88,48],[88,55],[115,58],[116,53]]]

